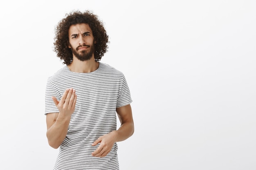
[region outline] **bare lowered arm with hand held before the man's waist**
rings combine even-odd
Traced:
[[[121,126],[118,130],[114,130],[103,135],[93,142],[92,146],[96,146],[100,143],[99,147],[92,152],[92,156],[94,157],[105,157],[110,152],[115,142],[128,139],[134,132],[132,109],[130,104],[119,107],[116,110]]]

